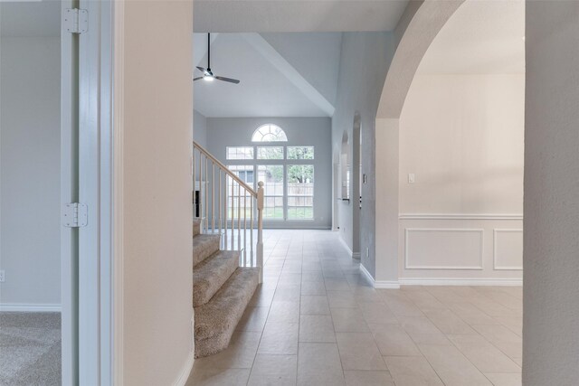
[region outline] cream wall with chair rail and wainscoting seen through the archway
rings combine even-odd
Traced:
[[[414,77],[400,117],[401,284],[521,283],[524,77]]]

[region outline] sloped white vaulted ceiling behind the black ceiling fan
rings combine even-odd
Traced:
[[[195,109],[205,117],[332,116],[341,33],[212,33],[212,41],[214,74],[241,83],[196,81]],[[195,33],[194,51],[206,67],[205,33]]]

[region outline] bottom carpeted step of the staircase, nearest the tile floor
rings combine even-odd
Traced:
[[[195,358],[223,351],[258,285],[258,268],[237,268],[203,306],[195,307]]]

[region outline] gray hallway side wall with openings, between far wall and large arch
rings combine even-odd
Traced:
[[[343,33],[340,74],[337,85],[336,113],[332,118],[333,155],[337,159],[344,131],[352,147],[353,123],[356,111],[361,118],[362,173],[367,184],[362,187],[362,211],[359,211],[352,181],[350,202],[337,202],[336,212],[340,236],[353,248],[359,245],[362,263],[375,275],[375,117],[388,66],[394,54],[392,33]],[[355,169],[355,168],[353,168]],[[354,171],[354,170],[353,170]],[[360,229],[355,228],[355,214],[360,215]],[[359,240],[356,238],[362,234]],[[366,256],[366,249],[368,256]]]

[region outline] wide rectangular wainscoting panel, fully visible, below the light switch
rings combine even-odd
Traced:
[[[405,230],[404,268],[482,269],[481,229]]]

